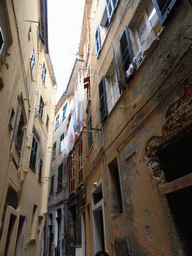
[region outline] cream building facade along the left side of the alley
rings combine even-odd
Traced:
[[[0,255],[40,255],[56,79],[47,1],[0,1]]]

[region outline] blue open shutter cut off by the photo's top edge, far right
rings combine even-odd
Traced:
[[[177,0],[152,0],[161,25],[164,25]]]

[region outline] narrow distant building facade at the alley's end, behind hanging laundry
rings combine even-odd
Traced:
[[[48,214],[45,227],[45,255],[69,255],[71,239],[68,233],[68,156],[78,136],[77,133],[72,132],[71,119],[74,113],[74,94],[78,73],[82,63],[80,58],[75,60],[66,90],[55,109]]]

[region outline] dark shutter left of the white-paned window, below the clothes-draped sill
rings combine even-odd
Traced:
[[[103,122],[108,115],[107,95],[106,95],[106,86],[105,86],[104,77],[101,79],[101,82],[99,84],[99,103],[100,103],[99,110],[100,110],[101,122]]]

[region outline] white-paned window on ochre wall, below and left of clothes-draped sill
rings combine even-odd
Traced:
[[[110,68],[105,76],[105,81],[107,94],[107,108],[108,112],[110,112],[120,97],[119,85],[117,81],[114,63],[110,65]]]

